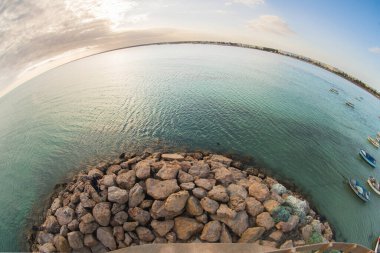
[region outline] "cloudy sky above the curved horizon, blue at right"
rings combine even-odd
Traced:
[[[0,97],[81,57],[180,40],[297,53],[380,91],[379,0],[1,0]]]

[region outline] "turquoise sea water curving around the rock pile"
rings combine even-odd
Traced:
[[[69,173],[147,147],[253,156],[299,186],[338,240],[371,246],[380,196],[364,204],[344,177],[380,179],[358,156],[380,160],[366,140],[379,108],[340,77],[251,49],[147,46],[66,64],[0,98],[0,250],[24,249],[30,213]]]

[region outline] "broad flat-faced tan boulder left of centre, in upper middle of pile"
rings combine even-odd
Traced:
[[[149,196],[154,199],[166,199],[170,194],[179,190],[177,180],[160,181],[152,178],[146,180],[146,189]]]

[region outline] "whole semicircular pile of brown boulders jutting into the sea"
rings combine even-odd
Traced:
[[[299,194],[222,155],[120,156],[56,192],[32,251],[107,252],[146,243],[258,243],[273,248],[331,241]]]

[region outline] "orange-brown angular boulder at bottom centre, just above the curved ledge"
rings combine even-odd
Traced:
[[[199,233],[203,225],[195,219],[187,217],[177,217],[174,219],[174,232],[178,239],[188,240],[196,233]]]

